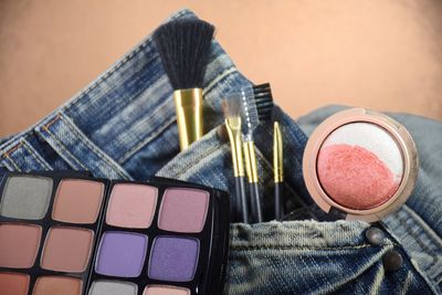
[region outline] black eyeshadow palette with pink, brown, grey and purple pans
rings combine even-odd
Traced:
[[[229,196],[199,185],[7,173],[0,295],[221,294]]]

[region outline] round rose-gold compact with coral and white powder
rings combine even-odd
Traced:
[[[418,154],[392,118],[352,108],[324,120],[304,151],[303,173],[315,202],[347,220],[377,221],[411,194]]]

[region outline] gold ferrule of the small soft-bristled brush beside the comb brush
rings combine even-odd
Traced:
[[[232,161],[234,177],[244,176],[244,159],[242,156],[242,138],[241,138],[241,118],[231,117],[225,119],[225,128],[228,129],[230,146],[232,149]]]

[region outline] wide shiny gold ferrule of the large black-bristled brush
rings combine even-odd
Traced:
[[[183,150],[203,135],[202,89],[173,92],[180,149]]]

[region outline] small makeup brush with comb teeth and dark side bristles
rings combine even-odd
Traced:
[[[260,124],[260,120],[269,119],[273,109],[273,97],[270,84],[260,84],[255,86],[242,87],[241,96],[243,117],[244,117],[244,156],[245,170],[248,172],[251,211],[253,222],[262,222],[261,198],[259,190],[257,162],[254,149],[253,131]]]

